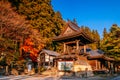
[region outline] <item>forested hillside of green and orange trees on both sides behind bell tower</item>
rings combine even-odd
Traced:
[[[75,19],[72,22],[77,24]],[[61,13],[53,10],[51,0],[0,1],[0,64],[11,65],[27,53],[36,61],[43,48],[60,50],[61,44],[53,43],[52,38],[61,33],[65,23]],[[103,39],[97,30],[80,27],[95,40],[89,45],[92,49],[102,49],[107,56],[120,60],[119,26],[114,24],[110,32],[104,29]]]

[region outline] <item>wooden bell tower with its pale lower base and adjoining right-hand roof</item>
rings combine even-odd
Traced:
[[[53,41],[63,44],[61,55],[55,58],[59,71],[80,72],[106,69],[104,67],[105,61],[110,62],[112,60],[105,57],[104,54],[88,52],[88,44],[95,41],[71,21],[66,23],[63,32],[54,37]]]

